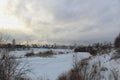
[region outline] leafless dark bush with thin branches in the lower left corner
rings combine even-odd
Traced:
[[[28,80],[25,78],[26,73],[30,71],[30,69],[25,69],[27,64],[21,66],[21,62],[9,55],[7,50],[1,54],[0,80]]]

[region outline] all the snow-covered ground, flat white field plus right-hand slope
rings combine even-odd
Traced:
[[[49,50],[52,50],[57,55],[44,58],[38,56],[25,57],[25,54],[31,51],[37,54]],[[58,54],[61,52],[62,54]],[[19,59],[23,64],[29,65],[27,68],[31,69],[31,72],[29,72],[27,76],[32,80],[37,80],[41,77],[56,80],[61,73],[68,72],[72,68],[73,58],[76,54],[79,60],[89,58],[89,69],[91,69],[94,64],[98,64],[98,69],[102,76],[101,80],[114,80],[113,74],[120,74],[120,58],[112,59],[116,54],[116,50],[112,50],[108,54],[97,56],[91,56],[86,52],[74,53],[74,51],[70,49],[31,49],[25,51],[11,51],[10,54],[21,57]],[[120,77],[120,75],[118,75],[118,77]]]

